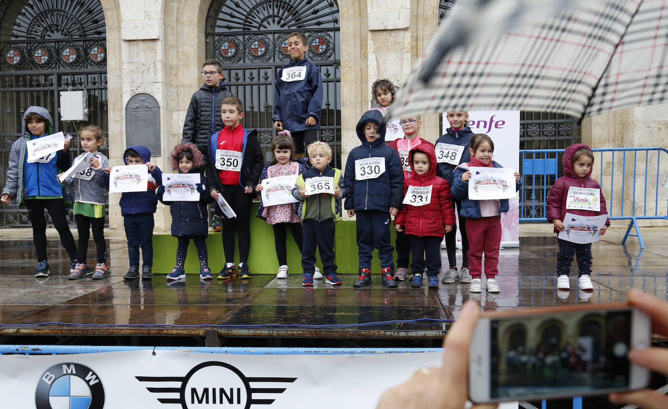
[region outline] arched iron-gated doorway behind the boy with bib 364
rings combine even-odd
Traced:
[[[224,82],[244,103],[243,126],[257,128],[267,157],[275,135],[273,96],[276,72],[287,64],[283,42],[293,31],[305,33],[307,57],[323,76],[320,139],[341,167],[341,67],[337,44],[339,7],[333,0],[213,0],[206,17],[206,58],[223,65]]]

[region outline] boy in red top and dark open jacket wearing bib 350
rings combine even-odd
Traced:
[[[234,210],[236,218],[222,220],[222,248],[225,265],[218,273],[220,280],[240,276],[251,278],[248,252],[251,249],[251,204],[255,186],[264,163],[257,130],[247,131],[240,125],[244,107],[237,97],[227,97],[220,104],[220,115],[225,127],[210,135],[206,179],[209,193],[218,200],[218,194]],[[220,213],[220,208],[216,209]],[[234,268],[234,233],[239,236],[239,271]]]

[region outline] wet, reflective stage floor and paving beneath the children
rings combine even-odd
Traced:
[[[228,336],[439,340],[467,300],[476,300],[482,310],[489,311],[621,302],[631,288],[668,298],[665,228],[643,228],[645,250],[634,238],[622,246],[623,231],[612,231],[594,244],[591,293],[576,288],[576,268],[572,269],[572,290],[556,290],[554,236],[522,237],[519,249],[500,254],[501,292],[496,295],[484,289],[482,294],[472,294],[468,284],[441,284],[438,290],[429,290],[426,280],[424,288],[409,288],[401,282],[398,289],[385,289],[377,274],[372,276],[373,286],[365,289],[353,288],[357,278],[353,274],[339,274],[341,287],[315,280],[309,289],[301,286],[300,274],[277,280],[274,272],[255,272],[251,280],[202,282],[193,275],[168,284],[164,275],[156,274],[152,281],[127,282],[122,279],[127,268],[122,238],[108,240],[112,276],[105,280],[67,280],[67,254],[58,250],[57,240],[49,242],[51,276],[35,278],[31,241],[6,240],[12,237],[11,230],[2,233],[0,336],[7,338],[195,336],[208,337],[210,345]],[[94,260],[92,242],[90,250]],[[445,252],[442,255],[445,258]],[[54,324],[34,325],[44,323]]]

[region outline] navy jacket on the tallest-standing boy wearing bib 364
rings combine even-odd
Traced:
[[[306,77],[301,81],[283,81],[283,70],[289,67],[306,67]],[[320,129],[323,109],[323,77],[320,70],[308,59],[291,59],[279,69],[274,81],[274,121],[281,121],[283,129],[291,132]],[[308,126],[306,119],[315,118],[315,125]]]

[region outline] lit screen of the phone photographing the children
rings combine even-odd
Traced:
[[[631,311],[491,320],[492,398],[629,387]]]

